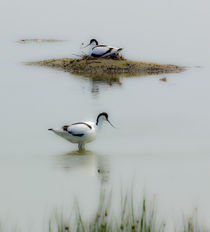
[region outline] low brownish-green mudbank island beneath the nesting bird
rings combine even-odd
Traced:
[[[80,59],[63,58],[37,62],[28,62],[28,65],[39,65],[62,69],[66,72],[80,74],[88,77],[107,75],[141,76],[161,73],[176,73],[184,70],[183,67],[172,64],[156,64],[143,61],[126,60],[123,57],[116,58],[91,58],[84,56]]]

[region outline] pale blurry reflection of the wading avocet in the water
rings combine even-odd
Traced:
[[[72,151],[56,156],[55,166],[67,172],[83,172],[90,176],[98,176],[102,184],[109,180],[108,159],[92,151]]]

